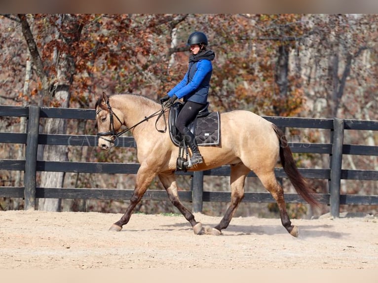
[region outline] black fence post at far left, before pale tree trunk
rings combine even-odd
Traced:
[[[25,151],[25,210],[36,209],[38,131],[39,106],[29,106],[28,136]]]

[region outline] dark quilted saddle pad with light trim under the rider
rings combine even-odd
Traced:
[[[172,142],[180,146],[183,138],[174,127],[174,123],[169,123],[170,137]],[[197,117],[189,125],[190,131],[194,134],[197,145],[213,146],[221,143],[221,120],[219,112],[210,112],[207,116]]]

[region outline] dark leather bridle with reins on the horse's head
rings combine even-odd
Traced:
[[[113,116],[118,120],[118,122],[122,125],[122,122],[121,120],[118,118],[118,116],[114,113],[112,107],[110,106],[110,103],[109,103],[109,100],[107,101],[107,107],[106,108],[100,108],[97,112],[96,112],[96,115],[98,113],[100,113],[102,110],[109,110],[109,114],[110,114],[110,130],[108,132],[100,132],[100,133],[97,133],[97,137],[99,137],[99,139],[103,139],[105,141],[109,141],[109,142],[113,142],[119,138],[122,134],[134,129],[136,126],[138,126],[139,124],[145,122],[145,121],[148,121],[150,118],[154,117],[154,116],[157,116],[157,119],[156,119],[156,122],[155,122],[155,129],[160,132],[160,133],[165,133],[167,131],[167,122],[165,121],[164,119],[164,123],[165,123],[165,127],[164,127],[164,130],[159,130],[157,129],[157,121],[160,119],[161,116],[163,116],[163,114],[167,111],[167,107],[165,106],[161,106],[161,110],[158,110],[154,113],[152,113],[150,116],[148,117],[145,117],[143,120],[141,120],[140,122],[136,123],[134,126],[130,127],[130,128],[126,128],[120,132],[115,132],[115,129],[114,129],[114,118]],[[110,139],[107,139],[105,138],[104,136],[111,136]]]

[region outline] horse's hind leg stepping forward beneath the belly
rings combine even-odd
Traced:
[[[247,174],[251,171],[244,164],[239,163],[231,165],[230,184],[231,184],[231,201],[221,222],[212,230],[206,229],[206,233],[219,235],[222,229],[226,229],[236,212],[237,207],[244,197],[244,181]],[[215,230],[216,229],[216,230]]]

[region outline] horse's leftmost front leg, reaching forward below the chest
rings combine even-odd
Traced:
[[[130,216],[133,213],[135,206],[141,201],[152,179],[156,176],[156,173],[146,165],[142,165],[138,170],[135,189],[133,195],[130,198],[130,204],[126,209],[126,212],[122,215],[121,219],[115,222],[109,230],[121,231],[122,226],[127,224],[130,220]]]

